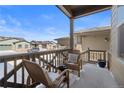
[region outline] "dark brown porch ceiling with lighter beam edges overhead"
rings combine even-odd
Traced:
[[[78,18],[111,9],[112,5],[57,5],[57,7],[69,18]]]

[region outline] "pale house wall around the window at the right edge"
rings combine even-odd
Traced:
[[[111,31],[111,44],[110,44],[110,52],[112,55],[112,63],[111,63],[111,71],[118,81],[121,87],[124,87],[124,58],[120,58],[118,56],[118,25],[124,23],[124,6],[119,9],[117,6],[113,6],[112,8],[112,31]],[[121,16],[120,16],[121,13]],[[120,21],[120,19],[122,19]]]

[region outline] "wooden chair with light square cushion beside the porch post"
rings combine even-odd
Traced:
[[[68,57],[66,57],[64,60],[64,64],[68,67],[68,69],[77,71],[78,77],[80,77],[80,69],[82,69],[80,51],[78,50],[69,51]]]

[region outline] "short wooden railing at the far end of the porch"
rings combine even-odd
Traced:
[[[86,50],[81,55],[84,63],[97,63],[99,59],[107,61],[107,52],[104,50]]]

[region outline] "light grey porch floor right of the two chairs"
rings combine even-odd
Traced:
[[[71,82],[71,80],[70,80]],[[81,77],[75,80],[71,88],[117,88],[118,84],[112,73],[106,68],[100,68],[94,64],[85,64]]]

